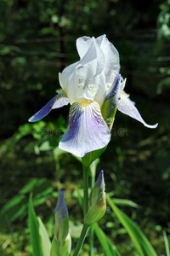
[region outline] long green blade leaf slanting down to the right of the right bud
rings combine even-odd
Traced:
[[[107,201],[112,209],[115,212],[116,217],[122,223],[124,228],[127,230],[128,235],[132,238],[135,246],[137,247],[140,255],[142,256],[157,256],[154,248],[151,246],[150,241],[144,236],[139,227],[133,224],[133,221],[127,217],[119,208],[116,207],[114,202],[111,200],[110,196],[106,196]]]

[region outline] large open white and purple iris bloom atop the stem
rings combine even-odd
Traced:
[[[80,61],[59,73],[62,89],[57,90],[58,94],[34,114],[30,122],[70,103],[69,126],[59,148],[79,157],[104,148],[110,142],[111,125],[107,125],[107,120],[115,108],[146,127],[156,128],[157,124],[144,122],[134,102],[124,92],[126,80],[119,74],[119,54],[105,35],[78,38],[77,51]]]

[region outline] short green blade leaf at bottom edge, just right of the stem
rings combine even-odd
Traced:
[[[107,256],[121,256],[120,253],[117,252],[116,247],[114,247],[109,240],[107,236],[105,236],[105,233],[103,230],[99,228],[99,224],[95,223],[93,224],[93,228],[95,231],[96,236],[98,237],[98,240],[103,247],[105,251],[105,255]]]

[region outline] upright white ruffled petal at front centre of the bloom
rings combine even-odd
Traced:
[[[88,48],[87,53],[79,62],[77,76],[79,79],[79,88],[77,90],[77,102],[90,100],[99,102],[101,105],[105,99],[105,55],[99,45],[96,44],[95,38]],[[96,98],[96,100],[94,99]]]

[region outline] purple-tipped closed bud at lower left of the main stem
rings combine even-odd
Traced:
[[[71,236],[69,234],[69,214],[65,204],[64,192],[59,191],[59,199],[54,209],[54,239],[59,246],[59,254],[68,256],[71,253]],[[58,255],[57,255],[58,256]]]

